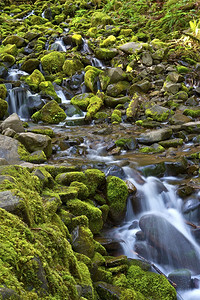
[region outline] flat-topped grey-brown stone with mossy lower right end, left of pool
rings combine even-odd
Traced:
[[[19,133],[17,139],[30,153],[37,150],[43,150],[47,157],[52,153],[51,139],[46,135],[24,132]]]

